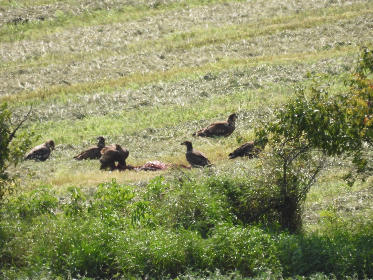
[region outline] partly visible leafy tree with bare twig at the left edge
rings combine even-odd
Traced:
[[[15,178],[7,172],[10,165],[17,165],[31,144],[33,131],[19,132],[19,128],[31,118],[31,109],[20,118],[12,116],[7,103],[0,105],[0,209],[7,196],[15,190]],[[18,133],[16,138],[16,133]]]

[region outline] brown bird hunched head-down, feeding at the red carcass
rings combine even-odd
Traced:
[[[108,145],[101,150],[100,169],[110,168],[110,171],[126,168],[126,159],[128,158],[129,151],[122,148],[120,145]],[[115,165],[118,162],[118,165]]]

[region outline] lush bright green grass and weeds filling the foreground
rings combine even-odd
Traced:
[[[59,206],[48,187],[23,194],[22,204],[5,211],[19,213],[18,223],[1,221],[2,240],[12,240],[1,243],[2,260],[19,256],[3,276],[175,278],[216,269],[226,277],[372,276],[371,222],[304,235],[242,226],[226,196],[236,181],[207,173],[192,172],[191,181],[159,177],[135,189],[111,181],[88,195],[71,189]],[[60,214],[47,214],[53,209]]]

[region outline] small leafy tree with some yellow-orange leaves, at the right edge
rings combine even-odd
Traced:
[[[360,72],[358,72],[360,71]],[[311,186],[335,158],[351,158],[354,181],[373,175],[367,160],[373,153],[372,45],[363,48],[357,72],[345,78],[347,93],[329,96],[322,85],[326,76],[317,75],[307,94],[296,89],[296,97],[275,110],[276,119],[256,130],[256,141],[268,139],[271,152],[263,161],[260,183],[272,189],[267,203],[256,213],[277,215],[282,228],[301,228],[301,209]],[[255,220],[258,215],[252,215]],[[250,221],[250,219],[248,219]]]

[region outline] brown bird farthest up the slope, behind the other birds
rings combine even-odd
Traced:
[[[209,126],[196,131],[192,136],[212,137],[224,136],[228,137],[236,129],[237,115],[235,113],[229,115],[226,121],[213,122]]]

